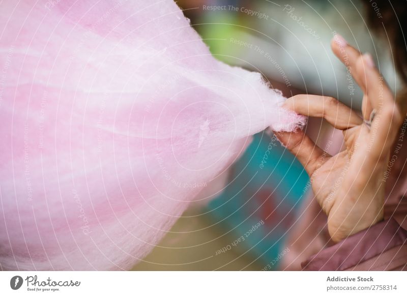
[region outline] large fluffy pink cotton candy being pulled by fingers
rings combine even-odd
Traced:
[[[253,134],[305,124],[171,0],[6,0],[0,23],[2,270],[129,269]]]

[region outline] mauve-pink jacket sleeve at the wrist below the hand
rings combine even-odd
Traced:
[[[407,231],[384,220],[301,263],[305,271],[406,270]]]

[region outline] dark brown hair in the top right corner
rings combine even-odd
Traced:
[[[395,69],[407,86],[407,2],[396,0],[363,0],[369,27],[389,40]]]

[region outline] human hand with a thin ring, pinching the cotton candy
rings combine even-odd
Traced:
[[[328,155],[303,131],[276,136],[310,176],[315,198],[328,216],[331,239],[338,242],[383,219],[384,172],[406,110],[396,104],[369,54],[361,54],[338,35],[331,47],[363,90],[363,119],[336,99],[324,96],[294,96],[283,107],[323,117],[343,131],[346,149]]]

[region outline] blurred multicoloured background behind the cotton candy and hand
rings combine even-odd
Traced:
[[[372,54],[393,91],[399,85],[389,49],[367,28],[359,1],[178,5],[218,60],[262,73],[286,97],[327,95],[360,109],[362,93],[330,49],[335,32]],[[371,9],[380,14],[379,7]],[[329,153],[341,145],[341,132],[323,121],[310,119],[306,132],[321,147],[333,139]],[[309,194],[307,174],[272,135],[261,133],[227,178],[220,196],[191,206],[133,270],[279,270],[281,256],[289,252],[287,234]]]

